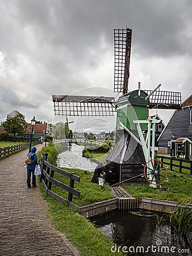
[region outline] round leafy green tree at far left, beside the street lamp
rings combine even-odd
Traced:
[[[28,123],[24,118],[24,115],[19,113],[17,110],[14,110],[10,114],[7,114],[7,119],[2,123],[2,126],[8,133],[14,134],[15,139],[16,134],[22,136],[26,132]]]

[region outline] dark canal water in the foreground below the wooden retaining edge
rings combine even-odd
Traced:
[[[90,221],[114,243],[111,247],[113,252],[124,251],[126,255],[192,255],[192,234],[178,236],[170,228],[167,216],[163,216],[158,225],[157,216],[160,221],[160,215],[152,212],[140,215],[115,210],[92,217]]]

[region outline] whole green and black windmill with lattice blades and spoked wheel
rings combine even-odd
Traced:
[[[114,93],[122,93],[117,101],[105,96],[53,95],[53,106],[55,115],[105,117],[116,113],[116,144],[106,158],[112,170],[108,180],[111,184],[147,180],[156,187],[166,180],[166,167],[154,155],[155,123],[161,121],[149,118],[148,112],[180,109],[181,93],[159,90],[160,85],[141,90],[140,83],[128,92],[131,38],[130,28],[114,30]]]

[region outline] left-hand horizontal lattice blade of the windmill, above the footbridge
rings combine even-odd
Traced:
[[[82,117],[113,116],[114,97],[53,95],[55,115]]]

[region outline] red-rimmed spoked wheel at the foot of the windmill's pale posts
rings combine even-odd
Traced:
[[[151,159],[144,166],[144,176],[150,184],[161,185],[165,182],[167,175],[167,168],[160,160]]]

